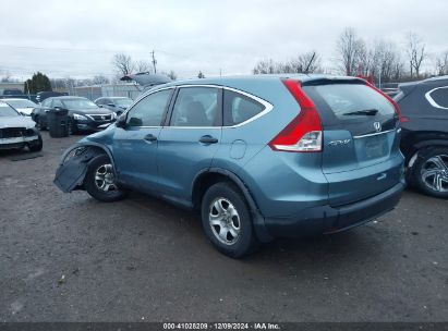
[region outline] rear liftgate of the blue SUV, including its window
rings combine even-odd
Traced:
[[[398,184],[402,156],[393,105],[360,81],[303,88],[322,115],[330,205],[362,200]]]

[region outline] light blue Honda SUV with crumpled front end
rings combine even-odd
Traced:
[[[242,257],[391,210],[404,187],[400,131],[393,100],[354,77],[174,82],[70,148],[55,183],[101,201],[135,189],[192,208],[220,252]]]

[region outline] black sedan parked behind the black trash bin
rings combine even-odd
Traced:
[[[32,119],[37,127],[48,127],[47,112],[50,109],[66,109],[69,111],[70,132],[96,131],[109,126],[117,119],[113,111],[99,108],[87,98],[82,97],[53,97],[45,99],[41,107],[35,108]]]

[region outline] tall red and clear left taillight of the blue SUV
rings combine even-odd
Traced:
[[[313,100],[301,88],[300,81],[283,79],[284,86],[300,105],[300,113],[270,143],[274,150],[322,151],[322,121]]]

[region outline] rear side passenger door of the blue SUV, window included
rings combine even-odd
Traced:
[[[159,187],[166,197],[189,201],[194,176],[210,167],[221,142],[221,88],[179,88],[158,139]]]

